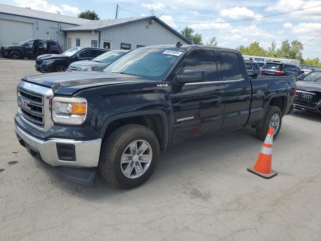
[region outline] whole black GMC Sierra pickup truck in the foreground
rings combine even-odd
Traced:
[[[170,144],[244,127],[264,139],[290,113],[293,77],[250,79],[242,55],[198,45],[143,47],[104,72],[25,77],[18,84],[21,145],[60,177],[132,188]]]

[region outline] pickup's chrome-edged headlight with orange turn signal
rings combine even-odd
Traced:
[[[82,124],[87,115],[87,100],[76,97],[53,97],[52,118],[56,123]]]

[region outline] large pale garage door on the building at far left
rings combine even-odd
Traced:
[[[34,38],[33,24],[0,19],[0,46]]]

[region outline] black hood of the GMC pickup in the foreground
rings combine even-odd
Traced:
[[[37,74],[22,80],[51,87],[56,94],[72,95],[84,88],[147,81],[141,77],[105,72],[60,72]],[[148,81],[149,82],[149,81]]]

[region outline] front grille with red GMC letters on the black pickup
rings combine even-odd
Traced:
[[[29,123],[43,128],[44,97],[26,90],[18,89],[18,105],[20,115]]]

